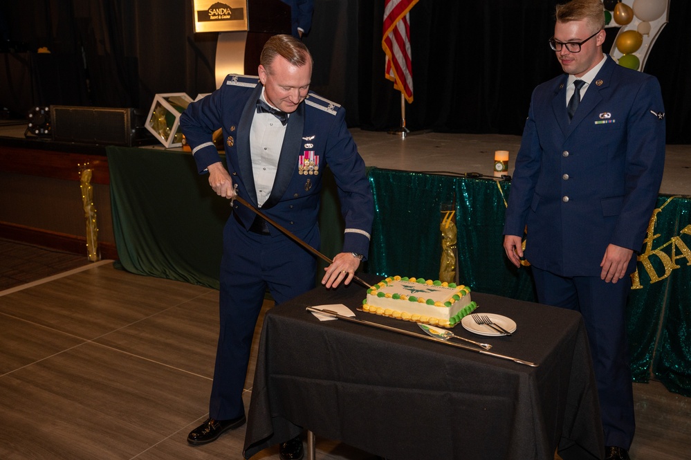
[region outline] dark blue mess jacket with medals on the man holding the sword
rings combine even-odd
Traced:
[[[212,163],[221,161],[211,136],[223,128],[228,172],[237,193],[257,207],[252,162],[250,125],[255,103],[261,94],[259,77],[228,75],[221,88],[187,107],[180,126],[192,147],[194,160],[203,174]],[[367,256],[374,203],[365,162],[344,121],[345,110],[338,104],[309,93],[288,118],[286,136],[279,158],[273,190],[261,211],[291,232],[300,235],[317,225],[324,168],[329,165],[338,185],[341,212],[345,220],[343,252]],[[310,153],[312,152],[312,153]],[[300,157],[319,160],[319,174],[300,174]],[[234,211],[245,228],[255,214],[239,203]],[[279,230],[269,226],[271,234]]]

